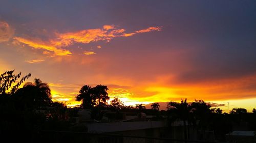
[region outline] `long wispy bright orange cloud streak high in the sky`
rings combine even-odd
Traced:
[[[6,24],[5,24],[6,25]],[[6,25],[6,27],[8,24]],[[49,41],[42,42],[38,39],[27,39],[22,37],[14,37],[14,40],[27,44],[30,47],[35,49],[45,49],[43,54],[50,54],[49,51],[53,52],[53,55],[70,55],[71,51],[63,49],[63,47],[73,45],[74,43],[87,44],[90,42],[97,42],[105,40],[107,42],[111,41],[115,37],[128,37],[133,36],[138,33],[146,33],[152,31],[160,31],[161,27],[148,27],[143,30],[135,31],[134,33],[124,33],[124,28],[116,28],[114,25],[103,25],[102,28],[87,29],[81,30],[78,32],[69,32],[69,33],[55,33],[55,38],[50,39]],[[15,41],[15,42],[16,42]],[[101,46],[97,46],[101,48]],[[96,54],[92,51],[84,51],[84,54]]]

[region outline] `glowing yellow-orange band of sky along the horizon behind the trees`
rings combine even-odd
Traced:
[[[165,77],[166,78],[166,77]],[[162,78],[158,78],[162,79]],[[250,80],[249,80],[250,79]],[[205,102],[218,103],[223,111],[228,112],[227,102],[236,103],[237,106],[232,105],[232,107],[244,107],[251,112],[253,108],[253,104],[256,98],[247,99],[246,95],[256,95],[255,91],[244,91],[238,89],[241,87],[241,84],[246,85],[247,82],[251,82],[251,79],[256,79],[256,76],[248,76],[240,79],[223,79],[222,81],[216,81],[211,83],[197,83],[197,84],[184,84],[184,85],[162,85],[163,80],[154,82],[154,84],[149,83],[147,85],[143,85],[142,87],[137,88],[125,88],[125,87],[109,87],[109,96],[110,101],[114,97],[118,97],[121,101],[124,102],[124,105],[132,105],[136,104],[150,104],[154,102],[168,102],[168,101],[176,101],[180,102],[181,98],[187,98],[188,102],[192,102],[195,99],[204,100]],[[222,84],[220,84],[221,82]],[[159,84],[159,85],[157,85]],[[53,84],[50,84],[53,85]],[[63,85],[54,85],[53,88],[61,88]],[[65,85],[64,85],[65,86]],[[77,87],[79,88],[79,87]],[[224,90],[224,92],[223,92]],[[240,94],[240,97],[233,96],[233,91],[237,94]],[[80,102],[74,100],[74,97],[78,94],[74,92],[72,96],[69,98],[65,98],[65,96],[56,97],[55,100],[59,101],[67,101],[72,105],[79,105]],[[244,95],[244,98],[241,99],[241,95]],[[240,102],[241,101],[241,102]],[[225,104],[223,106],[222,104]],[[230,109],[232,108],[230,106]],[[166,107],[164,107],[166,108]],[[254,107],[255,108],[255,107]]]

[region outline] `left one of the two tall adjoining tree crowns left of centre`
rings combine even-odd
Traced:
[[[91,94],[92,88],[88,85],[84,85],[80,89],[79,94],[76,96],[76,101],[82,101],[81,108],[92,108],[95,105]]]

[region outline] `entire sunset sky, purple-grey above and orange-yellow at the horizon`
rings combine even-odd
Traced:
[[[0,72],[79,104],[107,85],[125,105],[202,99],[256,108],[256,1],[1,1]],[[160,108],[164,109],[165,107]]]

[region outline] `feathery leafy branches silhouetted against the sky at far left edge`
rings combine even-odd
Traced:
[[[28,74],[19,81],[18,78],[22,72],[19,72],[18,74],[14,74],[14,70],[12,71],[6,71],[3,74],[0,75],[0,94],[13,94],[16,92],[18,87],[26,80],[28,79],[31,74]],[[17,82],[15,85],[13,85],[15,82]],[[8,93],[8,91],[10,92]]]

